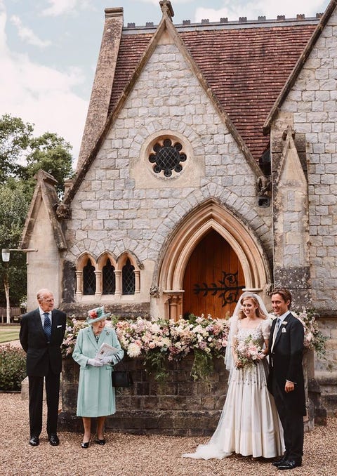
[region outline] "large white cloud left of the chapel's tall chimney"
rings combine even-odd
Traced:
[[[5,34],[6,11],[0,0],[1,114],[35,124],[34,134],[55,132],[73,145],[78,157],[88,109],[87,101],[73,92],[84,82],[78,68],[58,71],[32,61],[27,54],[9,51]]]

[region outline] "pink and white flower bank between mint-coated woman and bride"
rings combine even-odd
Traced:
[[[225,355],[229,324],[227,319],[212,319],[190,315],[178,321],[166,319],[125,320],[114,326],[129,357],[144,355],[147,371],[153,372],[157,381],[167,375],[167,361],[183,359],[194,353],[191,376],[194,380],[207,379],[213,371],[213,357]]]

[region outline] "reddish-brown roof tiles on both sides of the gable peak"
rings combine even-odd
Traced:
[[[269,142],[263,135],[264,121],[317,22],[249,28],[178,28],[192,58],[256,160]],[[146,30],[136,34],[126,34],[124,30],[110,111],[117,105],[152,35]]]

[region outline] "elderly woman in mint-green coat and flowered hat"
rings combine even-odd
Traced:
[[[112,327],[105,326],[104,308],[88,311],[88,327],[81,329],[77,336],[73,359],[79,364],[79,390],[77,394],[77,416],[84,425],[82,448],[88,448],[91,437],[91,418],[97,417],[97,438],[95,443],[105,444],[103,435],[105,417],[116,412],[114,388],[112,387],[112,365],[124,357],[124,350]],[[112,345],[118,351],[110,357],[95,359],[103,343]]]

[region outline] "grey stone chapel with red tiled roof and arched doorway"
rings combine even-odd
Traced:
[[[60,203],[38,173],[22,234],[29,310],[48,287],[77,316],[220,318],[286,286],[337,339],[337,0],[182,25],[158,8],[145,27],[105,10],[76,175]]]

